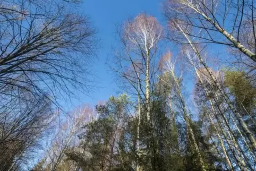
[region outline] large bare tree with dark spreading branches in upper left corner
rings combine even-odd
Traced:
[[[72,97],[90,88],[87,70],[96,47],[95,29],[87,16],[55,1],[0,2],[1,107],[20,92],[36,98]],[[83,73],[83,74],[81,74]],[[53,98],[54,97],[54,98]]]

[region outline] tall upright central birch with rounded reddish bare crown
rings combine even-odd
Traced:
[[[156,18],[139,14],[133,21],[127,21],[124,25],[124,39],[131,49],[135,49],[146,69],[146,92],[145,103],[147,108],[147,118],[150,120],[150,61],[157,52],[158,41],[163,36],[163,31]]]

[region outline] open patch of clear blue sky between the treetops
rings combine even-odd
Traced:
[[[163,20],[164,0],[84,0],[79,6],[84,14],[88,14],[93,25],[98,29],[97,37],[101,39],[101,48],[98,50],[98,59],[93,66],[98,76],[98,86],[91,97],[80,95],[80,101],[73,101],[73,105],[89,103],[97,104],[98,100],[107,100],[110,95],[116,95],[118,88],[112,72],[105,64],[112,57],[112,47],[116,44],[116,24],[122,24],[125,20],[133,18],[141,12],[155,16],[160,23]]]

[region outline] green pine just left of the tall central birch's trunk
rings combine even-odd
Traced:
[[[128,114],[126,108],[128,104],[129,98],[123,94],[117,98],[110,97],[106,105],[96,106],[99,119],[85,125],[84,132],[79,135],[81,140],[79,148],[80,151],[84,149],[84,153],[73,149],[67,153],[67,156],[85,170],[128,168],[124,167],[128,165],[127,161],[123,161],[120,157],[126,155],[123,126]],[[118,155],[116,146],[118,146]]]

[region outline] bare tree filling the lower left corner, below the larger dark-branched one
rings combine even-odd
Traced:
[[[1,109],[0,170],[12,170],[31,160],[33,150],[40,148],[40,140],[55,117],[47,97],[40,100],[27,94],[22,98],[13,100],[11,108]]]

